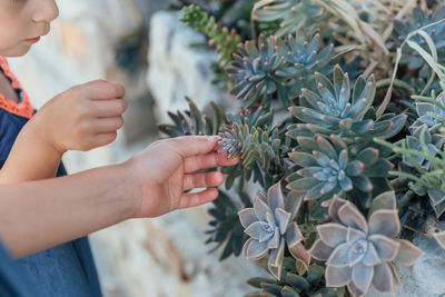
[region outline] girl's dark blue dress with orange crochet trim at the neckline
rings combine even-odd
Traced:
[[[28,96],[21,89],[17,78],[12,75],[2,57],[0,57],[0,71],[10,80],[20,99],[16,103],[0,95],[1,168],[17,136],[34,111],[29,103]],[[57,176],[65,175],[66,170],[60,165]],[[27,275],[30,285],[41,296],[101,296],[98,275],[87,237],[19,259],[17,264]]]

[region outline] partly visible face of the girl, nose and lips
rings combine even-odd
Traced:
[[[0,0],[0,56],[27,53],[58,16],[55,0]]]

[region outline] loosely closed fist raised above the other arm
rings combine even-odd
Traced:
[[[39,137],[58,152],[87,151],[112,142],[127,103],[121,85],[103,80],[73,87],[48,101],[31,119]]]

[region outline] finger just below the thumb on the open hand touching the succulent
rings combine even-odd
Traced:
[[[238,161],[239,158],[227,159],[226,152],[211,152],[187,158],[184,162],[184,170],[186,174],[190,174],[207,168],[237,165]]]

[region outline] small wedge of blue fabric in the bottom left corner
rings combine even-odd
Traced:
[[[11,259],[0,242],[0,296],[2,297],[43,297],[29,283],[28,276]]]

